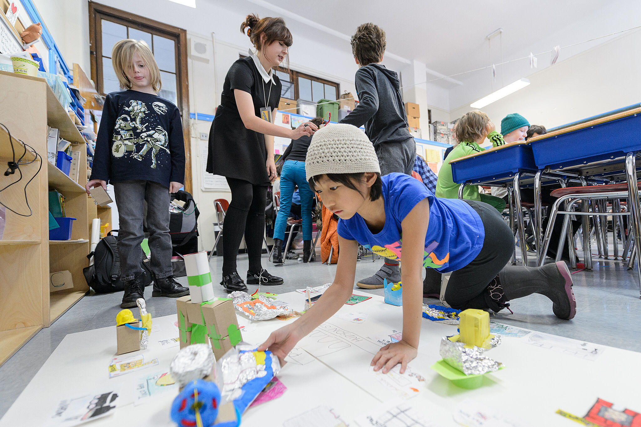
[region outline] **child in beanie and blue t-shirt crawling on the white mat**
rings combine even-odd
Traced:
[[[274,331],[269,348],[283,362],[296,342],[326,321],[351,296],[358,244],[383,256],[403,257],[403,339],[381,348],[371,365],[387,373],[416,357],[422,319],[422,269],[452,272],[445,300],[453,308],[499,312],[508,301],[543,294],[553,312],[572,319],[576,303],[565,262],[543,267],[506,265],[514,250],[510,228],[492,206],[438,199],[411,176],[380,176],[376,153],[362,131],[344,124],[317,131],[307,152],[306,178],[324,206],[338,215],[336,277],[296,322]]]

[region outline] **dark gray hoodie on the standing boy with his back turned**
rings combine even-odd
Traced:
[[[398,74],[385,65],[370,63],[360,67],[354,77],[358,106],[341,123],[357,128],[365,125],[365,134],[374,146],[385,142],[403,142],[412,138],[406,121]]]

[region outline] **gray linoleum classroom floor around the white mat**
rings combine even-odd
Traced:
[[[595,243],[592,247],[596,247]],[[512,301],[511,308],[514,314],[505,314],[506,310],[503,310],[500,314],[494,315],[494,320],[563,337],[641,351],[641,300],[636,271],[628,271],[627,263],[621,261],[603,260],[597,256],[593,259],[592,272],[578,271],[572,275],[577,312],[571,321],[554,317],[551,301],[537,294]],[[371,262],[371,258],[359,262],[356,267],[356,280],[374,274],[381,264],[382,260]],[[210,265],[214,283],[217,283],[220,281],[222,258],[214,256]],[[285,279],[285,284],[269,289],[276,293],[329,283],[333,281],[336,271],[336,265],[324,265],[320,262],[303,264],[296,260],[288,260],[285,265],[274,266],[267,263],[266,255],[263,255],[263,267]],[[239,255],[238,272],[241,276],[244,276],[246,269],[247,256]],[[186,278],[179,281],[187,282]],[[214,289],[216,296],[226,296],[220,285],[215,284]],[[250,287],[250,292],[252,291]],[[383,295],[383,289],[366,291]],[[174,299],[151,297],[149,287],[146,289],[146,296],[147,310],[154,317],[176,314]],[[40,330],[2,365],[0,416],[4,415],[65,335],[112,326],[116,314],[121,310],[121,299],[122,293],[90,294],[83,297],[49,328]],[[433,304],[438,301],[425,299],[424,302]]]

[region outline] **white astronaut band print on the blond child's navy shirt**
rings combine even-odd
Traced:
[[[150,111],[144,102],[131,99],[129,106],[123,108],[128,114],[118,117],[113,128],[114,157],[128,156],[142,161],[151,151],[151,167],[156,169],[160,160],[157,157],[164,151],[167,156],[164,156],[163,163],[170,161],[169,134],[158,120],[158,115],[167,113],[167,106],[154,102],[152,107],[153,110]]]

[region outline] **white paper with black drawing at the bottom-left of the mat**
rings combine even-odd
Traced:
[[[47,426],[72,427],[111,415],[119,403],[119,392],[119,387],[110,387],[75,398],[63,399],[56,405],[56,410]]]

